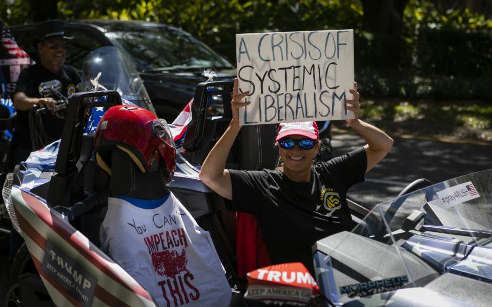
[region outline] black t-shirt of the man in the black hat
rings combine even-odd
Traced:
[[[40,98],[38,86],[42,82],[58,80],[62,84],[60,93],[68,97],[75,93],[75,86],[80,83],[77,71],[68,65],[63,65],[61,72],[56,75],[47,70],[43,65],[36,63],[23,69],[15,86],[14,93],[23,92],[28,97]],[[57,99],[53,97],[53,99]],[[31,134],[29,130],[29,111],[17,111],[12,144],[20,147],[31,148]],[[51,143],[61,138],[64,120],[55,117],[51,112],[46,112],[42,117],[48,142]]]

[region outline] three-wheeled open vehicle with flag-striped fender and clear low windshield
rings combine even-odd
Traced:
[[[234,214],[198,178],[200,163],[229,124],[231,91],[229,81],[198,85],[185,151],[169,188],[211,233],[231,286],[237,286],[231,305],[241,306],[247,287],[236,274],[234,247],[241,242],[235,242]],[[106,99],[96,99],[101,96]],[[109,182],[91,159],[93,135],[84,134],[84,127],[89,109],[117,104],[116,91],[73,95],[54,170],[20,165],[8,176],[3,196],[26,240],[14,261],[8,305],[155,305],[146,289],[99,249]],[[217,105],[223,115],[210,115],[208,109]],[[275,126],[243,127],[227,167],[254,169],[275,161],[273,149],[265,149],[272,148],[275,133]],[[349,206],[357,227],[313,246],[321,297],[316,304],[489,303],[492,169],[435,185],[416,181],[372,211]]]

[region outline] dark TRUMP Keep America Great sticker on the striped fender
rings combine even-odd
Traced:
[[[97,279],[62,252],[50,240],[46,241],[43,271],[83,306],[91,306]]]

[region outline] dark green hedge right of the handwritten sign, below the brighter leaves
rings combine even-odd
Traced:
[[[489,99],[492,96],[492,32],[423,29],[403,46],[398,67],[380,69],[371,35],[356,33],[355,74],[375,97]]]

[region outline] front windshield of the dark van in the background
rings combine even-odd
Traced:
[[[128,52],[140,72],[233,69],[226,59],[181,30],[146,27],[145,31],[111,31],[106,36]]]

